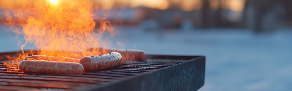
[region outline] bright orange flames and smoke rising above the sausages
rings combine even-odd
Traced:
[[[5,10],[4,23],[26,39],[22,50],[31,43],[33,55],[80,59],[105,53],[84,51],[90,47],[107,48],[108,40],[115,34],[110,22],[96,15],[98,7],[94,3],[93,0],[22,0],[21,3],[7,0],[0,2],[0,9]],[[11,58],[20,61],[27,55],[23,52],[22,56]]]

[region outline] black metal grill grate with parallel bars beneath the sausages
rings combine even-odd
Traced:
[[[171,59],[171,57],[176,57],[176,59]],[[156,72],[158,69],[172,67],[201,56],[185,56],[184,59],[177,59],[179,57],[181,56],[148,55],[143,62],[126,61],[110,69],[84,72],[83,75],[23,73],[17,67],[6,67],[4,64],[7,62],[17,65],[17,62],[0,60],[0,90],[103,90],[107,86],[123,83],[144,74]],[[190,58],[188,59],[188,57]],[[205,61],[204,57],[202,58]],[[14,72],[7,70],[14,70]],[[203,86],[203,82],[201,84]],[[135,89],[133,88],[133,90]]]

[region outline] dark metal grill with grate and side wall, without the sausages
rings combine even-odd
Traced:
[[[129,60],[106,70],[64,75],[23,73],[7,67],[4,62],[18,63],[5,55],[17,53],[21,52],[0,53],[0,90],[195,91],[204,84],[204,56],[147,55],[144,61]],[[7,71],[12,69],[15,71]]]

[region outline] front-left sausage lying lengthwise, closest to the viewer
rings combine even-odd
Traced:
[[[84,67],[80,63],[74,62],[23,60],[19,63],[19,70],[33,73],[82,75]]]

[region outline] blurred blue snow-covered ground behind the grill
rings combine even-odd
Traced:
[[[206,56],[199,91],[291,91],[292,31],[254,34],[249,29],[141,29],[116,26],[113,48],[148,54]],[[19,50],[13,32],[0,27],[0,52]],[[289,31],[290,30],[290,31]]]

